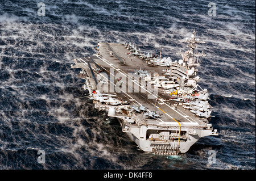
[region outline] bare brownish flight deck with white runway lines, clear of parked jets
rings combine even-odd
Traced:
[[[96,70],[98,66],[103,68],[106,74],[110,77],[110,69],[114,70],[114,73],[121,73],[124,74],[126,77],[129,76],[129,73],[134,73],[135,70],[139,70],[141,68],[145,68],[148,72],[151,73],[159,73],[161,74],[163,67],[155,67],[149,64],[146,64],[145,60],[137,56],[129,56],[129,50],[125,48],[123,44],[113,44],[113,43],[101,43],[101,54],[92,56],[92,57],[83,57],[78,58],[76,61],[82,67],[88,69],[90,73],[90,82],[94,86],[97,85],[96,78],[92,75],[91,70],[89,69],[89,65]],[[113,52],[113,54],[110,54]],[[94,60],[96,64],[93,64],[91,61]],[[120,61],[120,59],[122,61]],[[126,81],[128,82],[128,81]],[[123,100],[127,100],[131,104],[135,104],[136,106],[146,106],[150,111],[156,111],[162,115],[161,118],[152,120],[146,119],[150,123],[158,123],[158,124],[178,124],[179,122],[181,125],[194,125],[198,126],[202,124],[202,121],[198,119],[195,115],[192,115],[191,112],[184,110],[182,104],[179,102],[170,101],[170,96],[163,94],[162,90],[158,90],[158,95],[154,95],[152,92],[147,91],[146,87],[141,84],[141,82],[135,81],[134,84],[137,84],[139,87],[139,92],[122,92],[122,93],[115,93],[117,96]],[[134,85],[133,84],[133,85]],[[122,86],[127,86],[126,90],[133,89],[133,85],[129,85],[128,83],[122,84]],[[118,86],[115,81],[115,85],[109,86]],[[131,87],[132,86],[132,87]],[[95,87],[94,87],[95,89]],[[105,92],[107,93],[107,92]],[[111,93],[111,92],[108,92]],[[112,92],[113,93],[113,92]],[[152,95],[154,99],[148,99],[148,94]],[[176,105],[176,106],[175,106]]]

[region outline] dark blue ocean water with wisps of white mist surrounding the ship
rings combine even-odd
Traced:
[[[255,2],[214,3],[216,16],[199,0],[1,1],[0,169],[255,170]],[[178,156],[144,153],[81,98],[88,93],[70,64],[95,53],[97,42],[131,41],[156,54],[162,47],[179,60],[187,49],[178,40],[194,29],[206,41],[199,85],[212,93],[219,136]]]

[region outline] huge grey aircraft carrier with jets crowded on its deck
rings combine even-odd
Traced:
[[[209,92],[197,82],[198,44],[191,37],[180,40],[188,50],[180,60],[141,53],[131,43],[98,43],[90,57],[76,58],[71,68],[81,69],[95,107],[118,119],[121,129],[143,151],[160,155],[185,153],[197,140],[218,135],[209,123]]]

